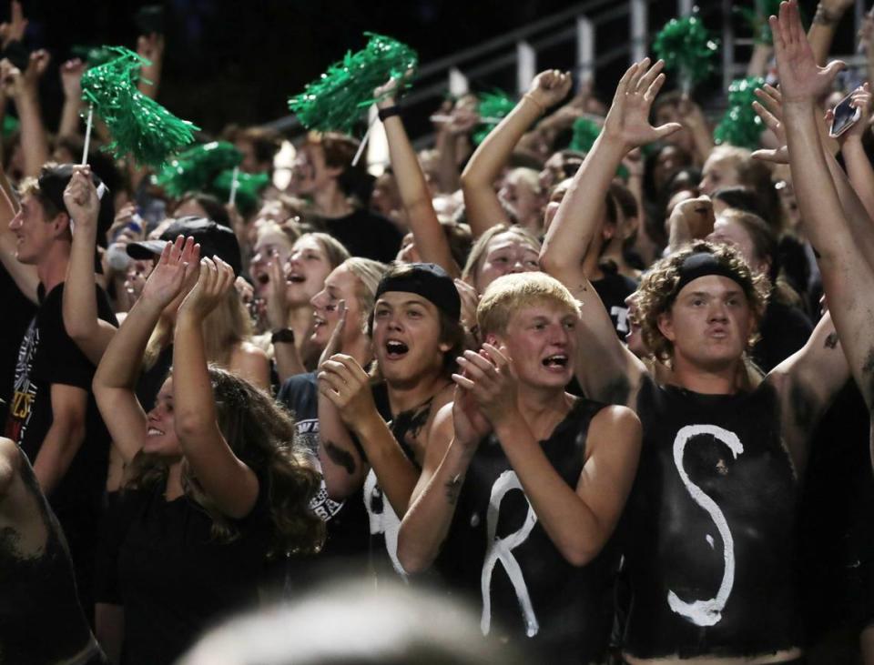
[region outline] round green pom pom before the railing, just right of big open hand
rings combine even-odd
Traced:
[[[713,72],[716,48],[697,16],[672,18],[653,41],[655,56],[665,61],[667,71],[679,74],[686,92]]]

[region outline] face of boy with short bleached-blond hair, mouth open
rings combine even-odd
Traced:
[[[491,334],[503,344],[520,383],[564,392],[574,378],[575,312],[544,298],[513,313],[503,334]]]

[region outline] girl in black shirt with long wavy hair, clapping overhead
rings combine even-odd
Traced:
[[[292,419],[266,392],[208,366],[204,321],[233,282],[221,259],[198,262],[190,238],[168,244],[95,378],[107,428],[137,451],[118,556],[130,662],[176,660],[206,625],[258,601],[270,557],[316,551],[323,539],[309,508],[319,474],[293,444]],[[174,372],[146,413],[133,391],[136,359],[160,312],[183,295]]]

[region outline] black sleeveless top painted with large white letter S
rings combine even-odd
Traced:
[[[742,657],[798,646],[798,481],[774,388],[701,395],[646,378],[637,414],[625,651]]]

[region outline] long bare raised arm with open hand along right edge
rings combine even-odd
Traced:
[[[864,298],[874,283],[872,260],[860,238],[849,229],[866,227],[870,219],[850,188],[849,205],[842,206],[832,180],[827,157],[818,136],[816,100],[830,88],[843,63],[819,67],[804,35],[796,2],[780,5],[779,18],[772,16],[771,29],[777,54],[777,71],[783,93],[783,114],[789,153],[789,167],[798,197],[802,222],[817,248],[819,269],[828,297],[829,310],[869,408],[874,404],[874,311]],[[843,176],[840,176],[843,177]]]

